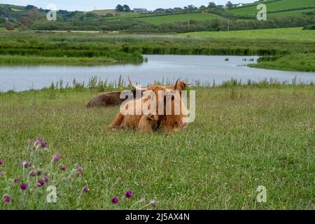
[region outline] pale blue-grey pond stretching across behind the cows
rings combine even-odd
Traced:
[[[276,78],[291,81],[293,78],[305,83],[315,82],[315,73],[251,69],[246,64],[256,63],[258,57],[251,56],[196,56],[196,55],[144,55],[148,62],[140,65],[123,64],[110,66],[0,66],[0,92],[8,90],[24,91],[48,87],[50,83],[62,79],[64,84],[88,82],[92,76],[102,80],[118,80],[131,76],[141,85],[154,81],[176,80],[177,78],[200,80],[221,84],[224,80],[262,80]],[[225,59],[228,58],[228,61]],[[244,61],[246,59],[246,61]],[[254,59],[254,62],[250,61]]]

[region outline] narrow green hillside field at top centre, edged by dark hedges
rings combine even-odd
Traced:
[[[160,15],[160,16],[152,16],[146,18],[137,18],[137,20],[141,20],[144,22],[148,22],[154,25],[160,25],[162,23],[169,22],[188,22],[189,20],[212,20],[214,18],[218,18],[217,15],[212,15],[210,13],[184,13],[184,14],[176,14],[176,15]]]

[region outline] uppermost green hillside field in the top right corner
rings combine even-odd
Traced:
[[[262,2],[263,3],[263,2]],[[256,15],[258,10],[256,9],[258,3],[253,4],[253,6],[241,7],[228,10],[228,13],[235,15]],[[267,12],[278,11],[278,10],[288,10],[295,8],[304,8],[304,7],[315,7],[314,0],[279,0],[273,2],[266,2]]]

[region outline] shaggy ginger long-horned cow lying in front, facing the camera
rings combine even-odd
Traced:
[[[172,134],[187,127],[187,124],[183,122],[183,118],[187,117],[187,112],[181,100],[182,90],[179,80],[172,90],[161,85],[140,88],[134,85],[132,80],[130,80],[130,85],[134,87],[134,90],[143,92],[144,95],[140,99],[133,99],[122,105],[120,112],[109,126],[109,130],[133,129],[143,132],[160,130]],[[156,106],[151,109],[152,101],[156,102]],[[172,105],[170,111],[167,111],[167,104]],[[129,112],[124,114],[122,109]],[[155,113],[152,113],[153,111]],[[177,113],[175,113],[176,111]]]

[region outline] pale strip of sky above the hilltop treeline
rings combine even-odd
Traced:
[[[209,1],[214,1],[217,5],[225,5],[228,0],[13,0],[2,1],[0,3],[13,4],[18,6],[33,5],[38,8],[47,8],[50,3],[54,3],[57,6],[57,10],[83,10],[89,11],[96,9],[110,9],[116,8],[118,4],[127,4],[130,8],[147,8],[153,10],[155,8],[174,8],[183,7],[193,4],[194,6],[207,6]],[[250,3],[255,0],[232,0],[232,3]]]

